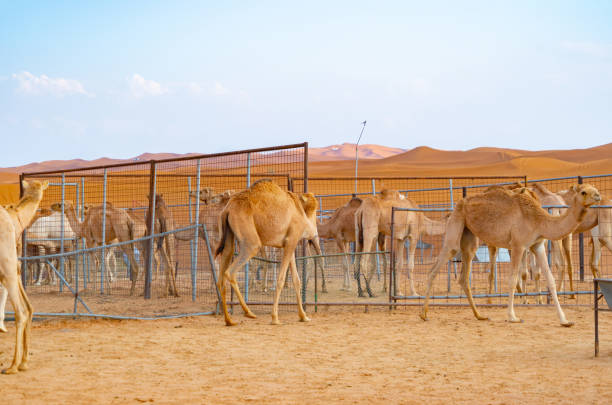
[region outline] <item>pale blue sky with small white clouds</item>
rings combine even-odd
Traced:
[[[0,0],[0,167],[612,142],[609,1]]]

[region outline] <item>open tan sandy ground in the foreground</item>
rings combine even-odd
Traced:
[[[163,321],[34,323],[31,369],[0,376],[6,403],[606,403],[612,400],[612,317],[569,308],[322,309],[312,322],[283,311],[228,328],[205,316]],[[0,336],[12,357],[14,328]]]

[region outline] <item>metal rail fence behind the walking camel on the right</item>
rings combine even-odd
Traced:
[[[540,184],[546,187],[552,192],[561,192],[567,190],[573,185],[582,183],[590,183],[595,186],[604,200],[599,206],[595,206],[589,209],[593,218],[594,223],[591,223],[589,227],[595,226],[592,229],[585,230],[584,233],[576,233],[571,235],[569,239],[569,245],[571,247],[571,263],[573,264],[574,272],[572,274],[573,289],[570,288],[570,276],[568,268],[570,264],[562,256],[562,243],[548,241],[546,243],[546,249],[548,254],[548,263],[553,272],[553,276],[556,280],[557,290],[560,295],[560,302],[563,305],[590,305],[592,302],[591,294],[593,273],[597,269],[599,274],[603,277],[612,276],[612,201],[606,199],[605,196],[611,195],[612,192],[612,175],[600,175],[600,176],[576,176],[576,177],[565,177],[565,178],[554,178],[554,179],[540,179],[530,180],[528,185],[533,187],[535,184]],[[473,188],[476,189],[476,188]],[[469,194],[469,193],[468,193]],[[567,205],[543,205],[549,212],[554,214],[555,209],[561,209],[563,211]],[[448,210],[450,209],[442,209]],[[422,215],[434,217],[439,215],[440,209],[422,207],[416,210],[410,210],[413,212],[419,212]],[[402,210],[397,210],[397,214],[400,214]],[[557,214],[561,214],[558,212]],[[404,213],[405,214],[405,213]],[[396,219],[394,224],[394,230],[401,231],[406,226],[404,219],[405,215],[399,220]],[[419,242],[424,245],[423,242]],[[424,286],[427,279],[427,271],[433,266],[434,261],[437,257],[437,252],[442,244],[442,236],[436,240],[430,241],[432,254],[419,263],[416,260],[415,271],[412,276],[415,284],[418,286],[417,290],[419,293],[423,293]],[[426,245],[430,247],[429,245]],[[588,249],[587,249],[588,247]],[[607,248],[607,249],[605,249]],[[436,250],[438,249],[438,250]],[[392,255],[403,254],[403,252],[393,252]],[[421,254],[421,257],[425,257]],[[533,263],[530,260],[529,270],[533,269]],[[444,270],[441,271],[434,281],[434,287],[432,295],[434,302],[444,304],[466,304],[467,299],[464,295],[463,290],[456,282],[459,277],[461,268],[461,256],[458,255],[453,260],[447,263]],[[421,270],[422,269],[422,270]],[[586,269],[586,270],[585,270]],[[408,302],[411,304],[420,305],[420,301],[423,298],[421,295],[412,295],[409,293],[409,274],[406,266],[397,267],[392,269],[393,274],[398,279],[399,290],[395,291],[394,294],[389,295],[390,302]],[[525,274],[526,279],[526,291],[524,293],[517,292],[516,295],[521,297],[517,302],[524,304],[539,304],[549,303],[550,296],[546,288],[546,279],[544,274],[541,275],[541,285],[539,289],[535,283],[537,280],[537,273],[530,272]],[[474,297],[477,298],[479,304],[504,304],[506,303],[506,297],[509,290],[509,277],[510,277],[510,252],[506,249],[500,249],[497,257],[496,264],[491,268],[491,258],[489,257],[488,248],[485,245],[478,247],[474,261],[472,262],[472,273],[470,277],[470,285]],[[489,293],[489,280],[492,279],[493,288]],[[563,281],[563,284],[561,282]]]

